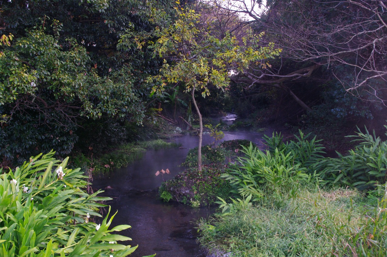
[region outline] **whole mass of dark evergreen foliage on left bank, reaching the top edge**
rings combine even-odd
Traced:
[[[160,4],[168,10],[168,1]],[[145,13],[135,0],[1,1],[3,166],[51,148],[69,153],[77,129],[94,120],[141,124],[152,114],[144,78],[158,70],[158,60],[116,48],[128,27],[152,28]]]

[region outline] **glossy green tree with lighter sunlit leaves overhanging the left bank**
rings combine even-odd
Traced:
[[[6,158],[26,157],[35,148],[69,153],[82,118],[144,118],[128,68],[100,77],[84,47],[74,39],[66,44],[36,28],[3,48],[0,153]]]

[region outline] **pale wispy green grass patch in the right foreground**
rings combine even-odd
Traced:
[[[349,245],[360,245],[353,242],[356,230],[369,223],[369,201],[356,189],[300,189],[254,205],[236,201],[229,212],[199,222],[199,242],[229,256],[352,256]]]

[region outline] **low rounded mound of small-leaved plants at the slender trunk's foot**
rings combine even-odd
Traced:
[[[195,207],[211,205],[218,196],[227,198],[230,195],[231,186],[221,178],[224,169],[222,164],[203,166],[201,171],[188,168],[163,182],[160,197],[166,202],[175,199]]]

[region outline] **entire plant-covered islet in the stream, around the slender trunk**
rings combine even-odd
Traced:
[[[228,140],[212,147],[202,146],[202,170],[197,168],[197,149],[190,149],[182,163],[187,169],[161,184],[161,199],[199,207],[214,204],[217,197],[231,196],[231,185],[221,177],[228,167],[225,161],[236,158],[238,151],[235,150],[250,143],[248,140]]]

